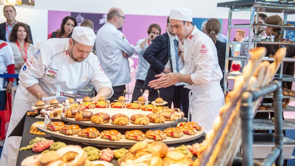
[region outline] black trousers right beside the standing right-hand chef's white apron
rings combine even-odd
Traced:
[[[187,118],[188,109],[190,105],[189,101],[189,92],[190,89],[183,88],[184,85],[174,86],[174,94],[173,94],[173,105],[174,108],[181,109],[184,113],[184,117]]]

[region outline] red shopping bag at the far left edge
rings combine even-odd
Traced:
[[[6,94],[7,94],[7,101],[6,101],[5,110],[0,111],[0,118],[1,118],[0,140],[5,139],[6,137],[6,132],[8,129],[10,116],[11,116],[11,93],[6,93]]]

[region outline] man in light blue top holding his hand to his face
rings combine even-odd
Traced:
[[[149,45],[154,41],[154,39],[161,34],[161,27],[158,24],[151,24],[148,27],[148,37],[144,39],[140,39],[136,45],[139,47],[134,47],[135,53],[138,54],[138,68],[136,70],[136,83],[134,87],[134,91],[132,94],[132,102],[137,101],[138,97],[141,96],[140,89],[143,91],[144,81],[148,73],[148,68],[150,64],[143,57],[145,49],[148,48]],[[149,91],[148,93],[148,101],[154,101],[155,96],[154,93]]]

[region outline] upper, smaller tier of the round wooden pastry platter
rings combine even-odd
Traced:
[[[130,117],[135,114],[142,114],[142,115],[148,115],[150,113],[153,113],[151,111],[143,111],[141,109],[127,109],[127,108],[122,108],[122,109],[116,109],[116,108],[95,108],[95,109],[87,109],[88,111],[91,111],[93,114],[96,113],[107,113],[110,117],[112,117],[115,114],[121,113],[126,116]],[[165,121],[165,123],[149,123],[147,125],[140,125],[140,124],[133,124],[129,121],[129,124],[127,125],[117,125],[117,124],[112,124],[110,122],[104,123],[104,124],[96,124],[92,123],[91,121],[76,121],[75,118],[67,118],[63,113],[61,114],[61,119],[67,122],[75,123],[75,124],[81,124],[85,126],[94,126],[94,127],[103,127],[103,128],[157,128],[157,127],[165,127],[165,126],[171,126],[175,123],[177,123],[178,120],[176,121]]]

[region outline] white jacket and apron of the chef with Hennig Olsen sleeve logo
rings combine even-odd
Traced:
[[[184,67],[181,74],[191,74],[194,84],[186,85],[190,91],[192,121],[212,128],[219,109],[224,105],[220,86],[222,71],[218,65],[217,50],[211,38],[194,26],[184,41]]]

